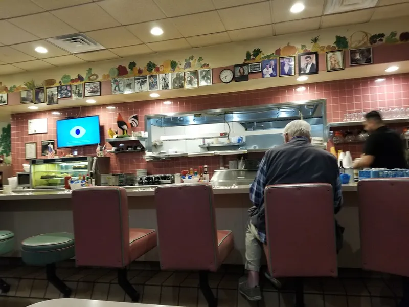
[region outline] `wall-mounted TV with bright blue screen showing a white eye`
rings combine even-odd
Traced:
[[[57,120],[57,147],[95,145],[100,142],[99,116]]]

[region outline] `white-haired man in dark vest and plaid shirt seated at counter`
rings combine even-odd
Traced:
[[[323,149],[316,148],[311,142],[311,126],[303,120],[294,120],[284,128],[284,144],[271,148],[260,163],[256,179],[250,188],[250,200],[253,207],[249,210],[250,220],[246,230],[247,280],[240,283],[239,291],[248,300],[261,300],[259,287],[260,261],[263,244],[266,244],[264,189],[274,184],[329,183],[333,188],[334,213],[342,206],[341,182],[336,158]],[[343,227],[336,222],[337,250],[342,246]],[[272,247],[274,248],[274,247]],[[266,277],[276,287],[280,282]]]

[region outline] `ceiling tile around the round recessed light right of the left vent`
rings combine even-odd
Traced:
[[[150,30],[153,27],[162,28],[164,30],[164,33],[159,36],[150,34]],[[137,25],[130,25],[126,26],[126,28],[143,42],[154,42],[183,37],[183,35],[181,35],[180,32],[176,29],[176,27],[173,25],[172,20],[169,18],[148,21],[147,23]]]

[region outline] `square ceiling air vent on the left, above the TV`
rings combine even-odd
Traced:
[[[47,40],[70,53],[81,53],[105,49],[104,46],[100,45],[94,39],[89,38],[83,33],[63,35],[48,38]]]

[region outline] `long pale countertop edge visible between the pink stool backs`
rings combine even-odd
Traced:
[[[142,189],[142,191],[141,191]],[[152,190],[144,190],[146,188],[138,188],[138,187],[126,187],[128,196],[153,196],[154,195],[154,187]],[[213,189],[214,194],[248,194],[249,193],[249,186],[238,186],[237,188],[220,188],[216,187]],[[343,184],[342,185],[343,192],[356,192],[357,191],[357,184],[350,183],[350,184]],[[38,191],[38,190],[30,190],[27,192],[15,192],[12,194],[0,194],[0,203],[1,201],[6,200],[47,200],[47,199],[69,199],[71,198],[71,193],[66,193],[64,191]]]

